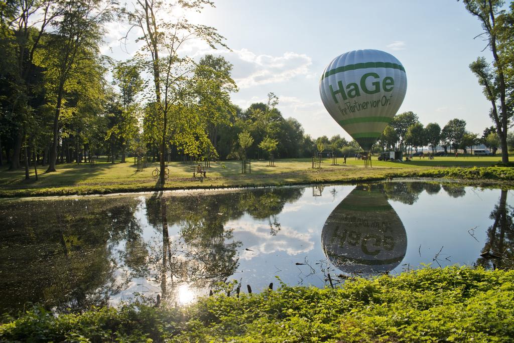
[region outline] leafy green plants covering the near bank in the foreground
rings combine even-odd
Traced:
[[[234,294],[234,292],[232,292]],[[136,302],[53,316],[4,317],[6,341],[508,342],[514,271],[424,268],[336,289],[287,287],[240,298],[218,293],[185,308]]]

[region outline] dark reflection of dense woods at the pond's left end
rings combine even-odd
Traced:
[[[32,301],[80,310],[105,303],[124,287],[112,254],[127,232],[140,231],[137,203],[84,198],[4,207],[0,227],[16,230],[0,230],[0,304],[16,309]]]

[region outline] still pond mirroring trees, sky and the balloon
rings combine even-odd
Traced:
[[[134,294],[176,306],[230,280],[260,292],[276,277],[325,287],[424,263],[512,268],[512,202],[419,181],[4,200],[0,313]]]

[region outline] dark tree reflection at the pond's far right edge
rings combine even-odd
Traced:
[[[514,207],[507,206],[507,190],[500,195],[500,202],[489,215],[494,223],[487,229],[487,242],[477,263],[488,268],[493,263],[498,268],[514,268]],[[499,256],[501,258],[495,258]]]

